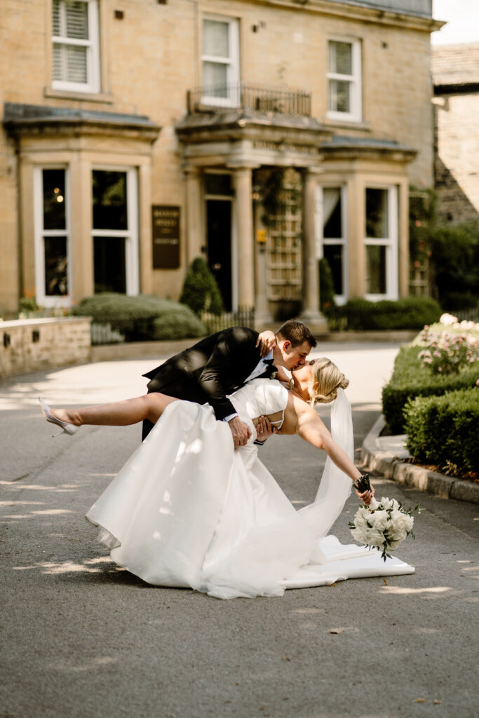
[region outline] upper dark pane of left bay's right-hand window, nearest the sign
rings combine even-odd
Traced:
[[[127,229],[126,172],[93,170],[93,228]]]

